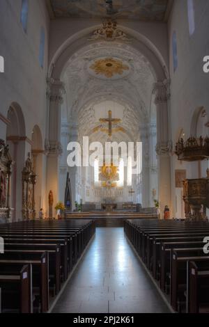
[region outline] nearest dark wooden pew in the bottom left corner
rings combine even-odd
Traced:
[[[31,264],[0,265],[1,305],[3,310],[31,312]]]

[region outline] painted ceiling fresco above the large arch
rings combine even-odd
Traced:
[[[164,21],[169,0],[49,0],[54,17],[113,17]]]

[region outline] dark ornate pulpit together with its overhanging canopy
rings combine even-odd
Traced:
[[[181,138],[176,144],[176,154],[181,161],[209,159],[209,138],[190,137],[186,142]],[[206,207],[209,208],[209,170],[206,178],[183,180],[183,200],[188,220],[206,219]]]

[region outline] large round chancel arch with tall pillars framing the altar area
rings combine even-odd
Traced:
[[[60,127],[59,122],[61,118],[57,117],[57,112],[60,110],[57,109],[57,106],[61,106],[61,103],[56,103],[56,101],[60,98],[60,91],[63,88],[62,77],[65,72],[65,67],[67,67],[70,58],[75,55],[78,51],[86,47],[89,43],[87,43],[87,38],[89,34],[91,34],[95,29],[99,26],[91,26],[89,29],[85,29],[80,31],[79,33],[75,33],[72,37],[65,40],[63,44],[59,47],[59,49],[54,54],[51,63],[49,64],[49,77],[52,82],[52,94],[54,90],[54,95],[50,99],[50,109],[52,114],[49,113],[49,121],[50,125],[57,125],[56,135],[57,144],[60,142]],[[150,66],[150,70],[153,72],[153,77],[155,81],[155,85],[153,85],[153,91],[155,91],[155,104],[157,106],[157,155],[158,155],[158,163],[159,163],[159,195],[160,195],[160,205],[162,207],[162,212],[165,205],[169,205],[172,210],[171,204],[171,158],[169,157],[169,152],[171,151],[171,139],[170,139],[170,130],[169,130],[169,69],[166,63],[163,60],[163,56],[160,54],[159,49],[153,45],[148,38],[145,38],[144,35],[141,35],[137,31],[132,29],[127,29],[123,26],[123,30],[127,31],[127,33],[132,37],[132,43],[128,45],[132,51],[137,51],[138,54],[141,54],[146,58],[144,61],[145,65]],[[98,41],[91,41],[92,47],[97,45]],[[121,42],[121,47],[123,43]],[[83,105],[83,104],[82,104]],[[56,122],[51,124],[53,120],[53,116],[56,115]],[[165,129],[164,126],[167,126]],[[51,135],[53,131],[51,131]],[[55,135],[53,134],[53,135]],[[50,135],[50,131],[49,131]],[[54,136],[50,141],[53,141],[54,144]],[[56,181],[59,180],[58,171],[59,171],[59,163],[58,159],[54,159],[52,157],[48,157],[48,165],[49,167],[54,167],[56,170]],[[50,168],[49,168],[50,169]],[[58,200],[59,190],[55,184],[49,181],[47,178],[47,189],[54,189],[54,198]],[[56,184],[58,184],[56,182]]]

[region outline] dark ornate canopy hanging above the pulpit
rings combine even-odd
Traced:
[[[209,138],[190,136],[187,141],[183,138],[176,143],[176,155],[181,161],[201,161],[209,158]]]

